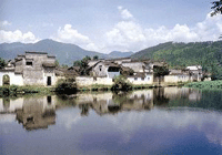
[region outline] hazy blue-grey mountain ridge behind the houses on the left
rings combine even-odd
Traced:
[[[85,55],[98,55],[100,59],[122,58],[129,56],[130,52],[111,52],[103,54],[94,51],[87,51],[78,45],[71,43],[61,43],[53,40],[41,40],[37,43],[2,43],[0,44],[0,58],[14,59],[18,54],[24,54],[24,51],[30,52],[48,52],[56,55],[60,64],[72,65],[73,61],[81,60]]]

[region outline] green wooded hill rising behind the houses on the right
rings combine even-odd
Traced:
[[[167,42],[144,49],[131,55],[132,59],[165,60],[170,66],[222,64],[222,41],[173,43]]]

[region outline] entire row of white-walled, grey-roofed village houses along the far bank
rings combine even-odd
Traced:
[[[168,74],[158,75],[158,68],[167,68],[164,62],[133,61],[131,58],[112,60],[92,60],[88,63],[90,75],[80,75],[79,66],[69,69],[56,68],[56,56],[43,52],[26,52],[18,55],[8,66],[0,70],[0,85],[54,85],[59,79],[74,76],[79,86],[92,84],[112,85],[114,76],[123,74],[132,84],[178,83],[201,81],[203,78],[200,65],[184,70],[168,70]]]

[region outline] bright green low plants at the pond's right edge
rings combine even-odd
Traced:
[[[192,82],[185,84],[186,87],[193,87],[199,90],[222,90],[222,80],[219,81],[204,81],[204,82]]]

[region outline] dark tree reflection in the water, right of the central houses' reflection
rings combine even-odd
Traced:
[[[164,89],[159,87],[153,90],[153,104],[154,105],[168,105],[169,99],[164,96]]]

